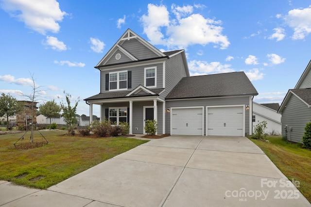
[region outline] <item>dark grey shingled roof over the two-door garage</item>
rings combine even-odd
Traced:
[[[165,99],[257,95],[244,72],[233,72],[182,78]]]

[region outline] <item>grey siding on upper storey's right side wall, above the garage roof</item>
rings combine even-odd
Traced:
[[[182,54],[179,53],[165,61],[165,91],[160,98],[165,98],[183,78],[187,77]]]

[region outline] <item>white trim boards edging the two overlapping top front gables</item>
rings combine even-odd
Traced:
[[[95,66],[95,68],[99,68],[103,66],[111,57],[111,55],[116,51],[120,50],[124,55],[126,55],[131,61],[139,61],[135,56],[133,56],[129,51],[124,49],[122,47],[122,44],[126,40],[136,39],[138,42],[140,42],[143,46],[150,49],[156,57],[163,58],[167,57],[163,52],[155,48],[153,45],[151,45],[149,42],[141,38],[138,34],[133,32],[131,29],[127,29],[124,34],[122,34],[121,38],[114,44],[112,48],[106,53],[106,55],[103,57],[103,59]]]

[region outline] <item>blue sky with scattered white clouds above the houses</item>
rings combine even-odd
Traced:
[[[281,103],[311,59],[310,0],[133,2],[0,0],[0,93],[23,100],[33,75],[39,104],[65,90],[88,115],[94,66],[127,28],[161,51],[185,49],[191,75],[244,71],[258,103]]]

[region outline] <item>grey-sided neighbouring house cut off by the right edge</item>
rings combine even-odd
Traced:
[[[287,92],[277,112],[282,114],[282,136],[302,143],[306,124],[311,119],[311,61],[294,89]]]

